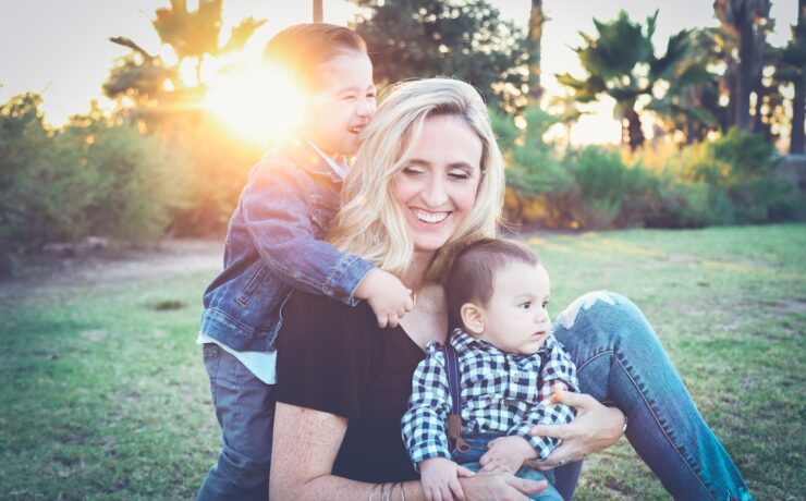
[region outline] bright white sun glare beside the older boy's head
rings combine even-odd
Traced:
[[[243,138],[282,139],[301,124],[304,96],[278,65],[242,65],[210,80],[205,106]]]

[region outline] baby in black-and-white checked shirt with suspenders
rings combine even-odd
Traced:
[[[448,342],[457,361],[462,440],[471,449],[449,449],[449,368],[445,350],[432,343],[414,374],[402,420],[426,499],[463,497],[457,477],[476,471],[544,478],[522,465],[545,460],[558,441],[529,429],[572,421],[573,410],[551,395],[579,391],[574,363],[550,333],[549,288],[537,256],[515,242],[481,240],[455,258],[445,289],[451,322],[461,328]],[[534,499],[562,498],[549,485]]]

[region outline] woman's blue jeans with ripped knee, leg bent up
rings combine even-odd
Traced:
[[[750,500],[742,475],[697,411],[644,314],[626,297],[589,293],[560,314],[554,335],[584,393],[619,407],[627,439],[674,499]],[[582,462],[554,469],[571,499]]]

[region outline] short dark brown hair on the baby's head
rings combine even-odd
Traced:
[[[487,305],[492,297],[496,276],[512,262],[536,266],[540,261],[527,246],[501,239],[481,239],[459,252],[445,285],[452,326],[462,326],[463,304]]]

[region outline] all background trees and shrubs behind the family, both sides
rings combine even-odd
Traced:
[[[94,110],[51,129],[35,95],[1,106],[0,274],[50,242],[107,235],[139,243],[224,230],[262,151],[205,109],[203,70],[223,56],[235,64],[264,21],[247,17],[225,36],[222,1],[155,12],[160,41],[176,56],[171,64],[125,36],[110,39],[131,50],[103,85],[118,105],[111,113]],[[558,75],[564,96],[548,96],[536,77],[551,22],[541,0],[532,2],[528,30],[487,0],[355,3],[364,14],[354,27],[381,86],[449,75],[486,96],[506,157],[510,224],[691,228],[806,218],[804,167],[782,181],[772,147],[791,125],[790,151],[803,154],[805,0],[782,48],[766,44],[768,0],[715,2],[718,27],[680,32],[664,47],[651,37],[662,12],[595,20],[575,49],[584,73]],[[182,63],[195,77],[181,75]],[[622,119],[623,148],[547,140],[558,127],[570,131],[585,102],[606,96]]]

